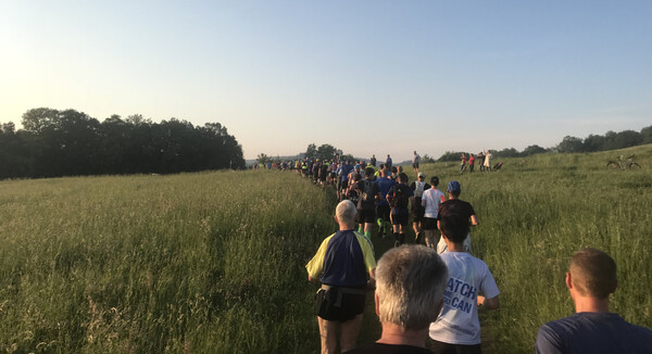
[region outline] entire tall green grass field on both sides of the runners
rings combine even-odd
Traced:
[[[641,169],[605,167],[631,153]],[[422,168],[459,180],[480,220],[474,254],[502,306],[480,311],[484,351],[531,353],[540,325],[573,314],[564,275],[584,246],[618,265],[611,309],[652,327],[652,146],[499,161]],[[304,265],[335,204],[276,170],[0,181],[0,351],[317,353]],[[372,241],[377,258],[393,243]],[[379,333],[369,293],[359,342]]]

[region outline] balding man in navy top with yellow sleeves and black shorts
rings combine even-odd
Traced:
[[[335,220],[339,231],[327,237],[305,266],[308,280],[319,279],[316,295],[317,323],[322,354],[355,347],[364,313],[367,274],[375,277],[376,258],[372,242],[354,231],[355,205],[342,201],[337,205]]]

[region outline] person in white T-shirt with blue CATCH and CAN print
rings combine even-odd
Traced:
[[[481,353],[478,307],[500,307],[500,291],[487,264],[464,250],[468,216],[454,204],[441,204],[439,230],[448,250],[440,254],[449,269],[441,314],[430,325],[436,354]],[[480,295],[482,294],[482,295]]]

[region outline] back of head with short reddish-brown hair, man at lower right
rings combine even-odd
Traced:
[[[580,295],[606,299],[616,291],[616,263],[600,250],[589,248],[575,252],[569,268],[573,287]]]

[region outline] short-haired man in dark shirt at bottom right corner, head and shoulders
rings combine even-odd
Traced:
[[[609,312],[616,291],[616,263],[597,249],[575,252],[566,287],[575,315],[539,328],[537,353],[652,353],[652,330],[627,323]]]

